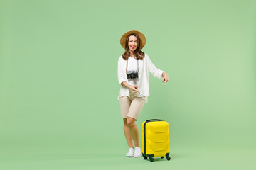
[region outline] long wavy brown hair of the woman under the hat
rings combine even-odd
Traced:
[[[128,57],[131,55],[131,52],[129,51],[129,47],[128,47],[128,41],[129,41],[129,37],[130,37],[131,35],[134,35],[135,37],[137,37],[137,40],[138,40],[137,49],[134,51],[135,58],[136,58],[136,59],[143,60],[143,58],[145,57],[145,53],[140,50],[140,41],[141,41],[141,40],[140,40],[140,38],[139,38],[139,35],[137,35],[136,33],[132,33],[132,34],[130,34],[130,35],[127,36],[127,40],[126,40],[126,42],[125,42],[125,52],[124,52],[124,54],[122,55],[122,58],[123,58],[124,60],[127,60]]]

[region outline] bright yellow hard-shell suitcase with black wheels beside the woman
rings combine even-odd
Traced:
[[[142,156],[146,160],[149,157],[154,162],[153,157],[162,159],[169,157],[169,124],[161,119],[146,120],[142,123]]]

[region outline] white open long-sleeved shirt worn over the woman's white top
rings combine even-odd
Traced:
[[[123,81],[126,81],[128,83],[127,74],[126,74],[126,67],[127,67],[127,60],[124,60],[122,56],[119,57],[118,60],[118,72],[117,77],[119,84],[121,84]],[[153,74],[154,77],[162,79],[161,76],[164,71],[161,69],[157,69],[156,66],[151,62],[149,59],[149,56],[146,55],[143,58],[143,60],[139,60],[139,85],[138,90],[140,92],[137,93],[137,97],[146,97],[145,103],[148,102],[148,96],[149,96],[149,72]],[[121,86],[119,95],[117,99],[119,100],[119,96],[129,96],[129,89],[126,86]]]

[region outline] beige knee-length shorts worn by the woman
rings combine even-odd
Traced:
[[[122,118],[134,118],[137,120],[145,103],[145,97],[137,97],[137,91],[130,90],[130,96],[119,96]]]

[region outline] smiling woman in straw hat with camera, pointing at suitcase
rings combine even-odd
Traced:
[[[139,131],[135,121],[137,120],[144,103],[149,96],[149,72],[154,77],[162,79],[164,84],[168,82],[168,75],[161,69],[157,69],[142,52],[146,44],[143,33],[131,30],[122,35],[121,46],[125,52],[118,60],[118,81],[121,84],[119,91],[119,104],[121,116],[124,121],[124,135],[129,146],[127,157],[141,157],[142,151],[139,147]],[[134,146],[132,144],[134,141]]]

